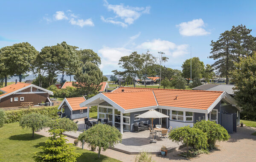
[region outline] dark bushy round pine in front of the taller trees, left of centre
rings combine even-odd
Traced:
[[[74,79],[78,84],[73,84],[73,86],[81,89],[85,95],[91,93],[96,93],[102,87],[100,85],[103,81],[102,71],[97,67],[96,64],[91,62],[86,62],[81,67],[78,68],[74,75]]]

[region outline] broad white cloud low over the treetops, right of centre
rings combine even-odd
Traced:
[[[150,50],[152,53],[157,53],[162,51],[166,53],[167,56],[171,56],[173,58],[177,58],[179,56],[183,56],[184,54],[188,53],[189,45],[176,45],[173,42],[161,40],[161,39],[154,39],[150,42],[143,42],[142,44],[138,45],[137,49],[143,50]]]

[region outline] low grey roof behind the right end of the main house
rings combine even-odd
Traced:
[[[201,86],[192,88],[192,90],[225,91],[233,97],[235,95],[233,87],[233,84],[203,84]]]

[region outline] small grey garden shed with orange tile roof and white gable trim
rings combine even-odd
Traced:
[[[58,109],[61,110],[61,117],[79,119],[87,117],[87,107],[80,107],[79,104],[86,101],[84,97],[64,98]]]

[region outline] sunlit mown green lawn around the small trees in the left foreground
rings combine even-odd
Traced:
[[[30,130],[22,129],[18,123],[5,124],[0,128],[0,156],[3,162],[33,162],[33,153],[40,151],[39,146],[44,145],[47,137],[35,134],[32,138]],[[76,146],[74,146],[76,147]],[[82,155],[77,162],[119,162],[119,160],[76,147],[76,152]]]

